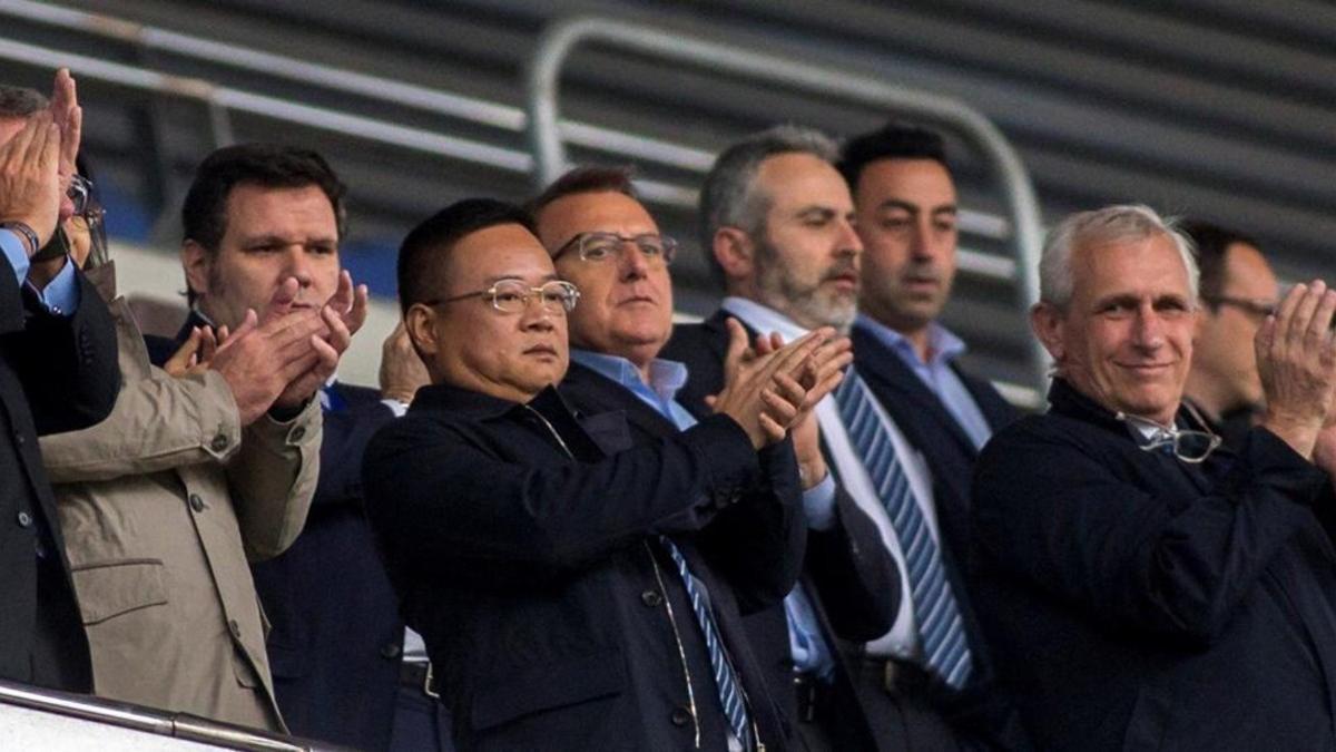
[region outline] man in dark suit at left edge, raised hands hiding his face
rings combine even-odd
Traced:
[[[0,88],[0,677],[87,692],[88,642],[37,435],[111,412],[116,339],[73,262],[33,261],[75,210],[64,193],[80,122],[68,71],[56,74],[49,106]]]

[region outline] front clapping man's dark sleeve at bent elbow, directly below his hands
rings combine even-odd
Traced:
[[[733,586],[743,614],[778,603],[794,589],[807,547],[792,443],[759,454],[766,486],[744,494],[700,533],[700,550]]]

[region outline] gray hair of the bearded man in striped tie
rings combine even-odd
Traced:
[[[811,154],[834,165],[839,146],[816,128],[784,124],[752,134],[725,149],[715,159],[700,189],[700,245],[715,278],[723,281],[724,270],[711,253],[720,227],[737,227],[760,237],[771,197],[756,190],[756,173],[762,162],[778,154]]]

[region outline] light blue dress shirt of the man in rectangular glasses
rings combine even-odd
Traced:
[[[672,420],[679,431],[696,424],[696,419],[675,399],[677,391],[687,384],[685,364],[655,359],[649,364],[649,384],[645,384],[640,371],[624,357],[572,348],[570,360],[621,384]],[[835,525],[835,479],[830,472],[824,480],[803,492],[803,511],[807,514],[807,526],[814,530]],[[818,526],[818,521],[822,526]],[[788,646],[794,668],[828,681],[835,674],[835,660],[831,657],[830,645],[822,637],[816,612],[802,585],[795,586],[784,597],[784,613],[788,616]]]

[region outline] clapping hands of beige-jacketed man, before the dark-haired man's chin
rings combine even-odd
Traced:
[[[262,313],[247,309],[235,331],[196,326],[163,365],[172,376],[216,371],[232,391],[242,426],[270,409],[295,409],[329,381],[353,335],[366,321],[366,285],[339,273],[319,308],[294,308],[299,284],[289,277]]]

